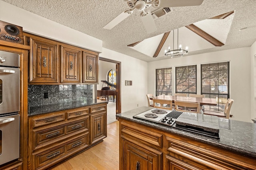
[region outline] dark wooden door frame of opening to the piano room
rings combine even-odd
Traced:
[[[99,57],[100,61],[116,64],[116,114],[121,113],[121,62]]]

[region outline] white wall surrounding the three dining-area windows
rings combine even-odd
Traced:
[[[148,93],[155,94],[155,69],[172,67],[172,93],[175,92],[175,66],[197,64],[197,93],[200,94],[200,64],[230,61],[230,98],[234,100],[231,119],[251,121],[250,47],[217,51],[148,63]]]

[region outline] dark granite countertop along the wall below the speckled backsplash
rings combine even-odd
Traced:
[[[58,104],[28,107],[28,116],[50,113],[54,111],[61,111],[66,109],[73,109],[76,107],[91,106],[94,104],[100,104],[105,102],[106,101],[102,101],[98,99],[87,99],[87,100],[78,100],[73,102],[64,102],[64,103],[58,103]]]

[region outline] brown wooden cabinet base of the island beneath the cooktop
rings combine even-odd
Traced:
[[[119,117],[120,169],[255,170],[255,158]]]

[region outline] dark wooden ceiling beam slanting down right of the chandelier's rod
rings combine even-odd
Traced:
[[[215,45],[215,46],[218,46],[218,47],[224,45],[218,39],[215,39],[214,37],[212,37],[208,33],[204,32],[202,29],[198,28],[194,24],[186,25],[185,27],[187,27],[188,29],[190,29],[191,31],[193,31],[194,33],[196,33],[197,35],[199,35],[200,37],[202,37],[203,39],[205,39],[206,41],[208,41],[212,45]]]

